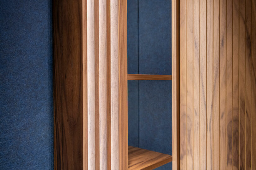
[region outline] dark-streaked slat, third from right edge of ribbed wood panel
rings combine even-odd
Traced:
[[[245,169],[245,1],[239,4],[239,169]]]

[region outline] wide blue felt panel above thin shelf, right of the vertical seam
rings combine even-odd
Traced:
[[[171,0],[139,0],[139,74],[171,74]]]

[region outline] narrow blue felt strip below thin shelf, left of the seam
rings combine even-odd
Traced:
[[[128,145],[139,147],[138,81],[128,81]]]

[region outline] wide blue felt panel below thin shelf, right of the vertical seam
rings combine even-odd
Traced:
[[[172,154],[172,82],[139,82],[139,147]]]

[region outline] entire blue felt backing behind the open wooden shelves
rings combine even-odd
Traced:
[[[171,74],[171,1],[127,0],[127,28],[128,74]],[[129,145],[172,154],[171,85],[128,81]]]

